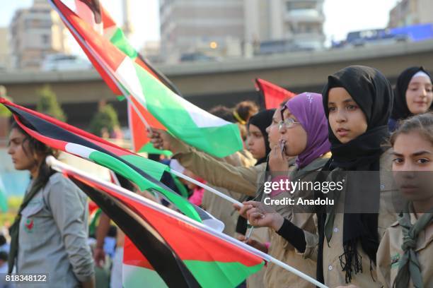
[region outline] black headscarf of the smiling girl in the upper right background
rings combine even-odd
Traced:
[[[394,89],[394,105],[393,112],[391,113],[391,118],[398,121],[400,119],[406,119],[409,116],[412,116],[408,108],[408,102],[406,102],[406,91],[408,90],[408,86],[412,77],[418,72],[426,73],[430,80],[433,83],[432,76],[425,71],[425,68],[422,66],[414,66],[407,68],[403,71],[400,76],[397,78],[396,88]],[[430,109],[433,109],[433,104],[430,106]]]

